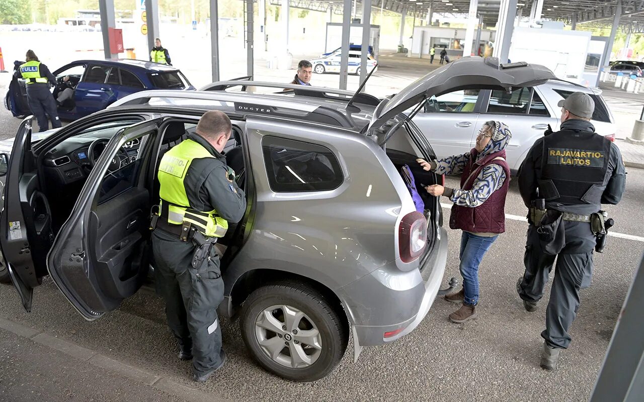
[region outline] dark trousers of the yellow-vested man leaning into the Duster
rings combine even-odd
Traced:
[[[198,269],[191,265],[195,246],[156,228],[152,233],[156,292],[166,301],[166,317],[184,351],[193,352],[196,374],[222,363],[222,330],[217,307],[223,280],[214,244]]]

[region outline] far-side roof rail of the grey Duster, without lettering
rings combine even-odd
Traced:
[[[298,96],[312,96],[314,98],[325,98],[329,100],[336,100],[340,102],[348,103],[351,98],[355,95],[351,91],[343,91],[342,89],[334,88],[325,88],[325,87],[314,87],[314,86],[303,86],[296,84],[280,84],[279,82],[262,82],[262,81],[251,81],[245,80],[241,77],[229,81],[217,81],[211,84],[207,84],[203,87],[200,87],[199,91],[225,91],[231,87],[242,87],[242,91],[247,91],[247,88],[252,87],[265,87],[265,88],[278,88],[283,89],[279,91],[279,94],[283,95],[298,95]],[[341,96],[336,96],[341,95]],[[346,97],[343,97],[346,96]],[[363,105],[372,105],[377,106],[380,104],[380,100],[373,95],[367,93],[358,93],[354,99],[355,103]]]

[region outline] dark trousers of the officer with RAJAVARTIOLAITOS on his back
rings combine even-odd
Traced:
[[[530,224],[527,230],[524,264],[526,271],[519,285],[519,296],[528,302],[538,302],[544,295],[548,276],[554,271],[550,301],[545,312],[545,331],[541,336],[551,347],[565,349],[570,345],[570,326],[580,305],[579,291],[591,285],[592,251],[595,235],[587,222],[562,221],[565,245],[558,255],[542,251],[537,228]]]

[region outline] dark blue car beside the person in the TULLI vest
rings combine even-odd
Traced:
[[[18,67],[22,62],[15,62]],[[103,110],[117,99],[147,89],[195,90],[178,69],[144,60],[78,60],[53,71],[57,86],[53,96],[71,87],[71,99],[58,106],[62,120],[77,120]],[[69,77],[65,82],[64,78]],[[5,107],[16,117],[32,114],[24,80],[14,74],[5,96]]]

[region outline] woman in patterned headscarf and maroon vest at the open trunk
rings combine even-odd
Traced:
[[[460,189],[431,185],[432,196],[448,197],[450,228],[463,231],[460,240],[460,274],[463,288],[445,300],[462,303],[450,314],[451,322],[466,322],[477,316],[478,265],[500,233],[505,232],[507,188],[510,169],[506,147],[512,138],[507,125],[489,121],[478,131],[476,147],[466,154],[442,160],[417,160],[424,170],[436,174],[460,174]]]

